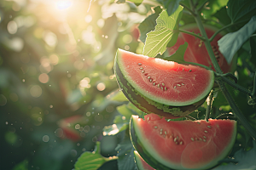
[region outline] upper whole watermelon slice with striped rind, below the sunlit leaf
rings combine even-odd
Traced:
[[[214,82],[213,71],[199,66],[121,49],[117,51],[114,70],[119,87],[133,105],[166,118],[195,111],[205,101]]]

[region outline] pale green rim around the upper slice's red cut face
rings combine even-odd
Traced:
[[[127,52],[125,50],[118,49],[117,53],[116,53],[116,57],[115,57],[115,62],[117,63],[117,65],[119,65],[119,70],[125,76],[125,66],[122,65],[121,61],[119,61],[122,59],[123,53],[131,53],[131,52]],[[141,56],[143,56],[143,55],[141,55]],[[146,57],[146,56],[143,56],[143,57]],[[125,76],[125,79],[127,80],[127,82],[129,82],[131,84],[131,86],[133,88],[137,89],[137,92],[139,92],[140,94],[144,94],[144,96],[147,97],[148,99],[151,99],[155,102],[165,104],[165,105],[183,106],[183,105],[193,105],[196,102],[199,102],[201,99],[204,99],[210,93],[210,91],[213,87],[213,84],[214,84],[214,73],[213,73],[213,71],[210,71],[210,70],[206,70],[206,71],[209,71],[209,79],[210,79],[210,82],[209,82],[207,88],[205,88],[205,90],[201,93],[201,95],[197,96],[195,99],[191,99],[191,100],[185,101],[185,102],[170,101],[168,99],[162,99],[160,97],[154,96],[153,94],[149,94],[147,92],[147,89],[140,88],[136,82],[131,80],[131,77]]]

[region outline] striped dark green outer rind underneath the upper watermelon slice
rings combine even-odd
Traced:
[[[166,118],[176,119],[182,116],[189,115],[190,113],[198,109],[207,99],[207,97],[205,97],[204,99],[201,99],[195,104],[184,106],[160,104],[153,101],[152,99],[148,99],[143,94],[137,92],[137,90],[133,88],[129,82],[127,82],[124,75],[120,71],[117,62],[114,62],[114,71],[117,82],[119,84],[119,88],[122,90],[123,94],[125,94],[125,97],[129,99],[133,105],[137,106],[138,109],[145,113],[156,113],[160,116],[166,116]]]

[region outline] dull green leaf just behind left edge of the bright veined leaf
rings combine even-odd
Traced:
[[[147,33],[149,31],[154,31],[154,26],[156,25],[156,19],[159,17],[162,9],[160,6],[154,8],[154,14],[150,14],[143,22],[138,26],[140,30],[140,40],[145,43]]]

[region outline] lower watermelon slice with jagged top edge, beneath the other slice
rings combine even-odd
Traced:
[[[236,140],[236,121],[167,122],[155,114],[131,116],[131,141],[155,169],[207,169],[224,159]]]

